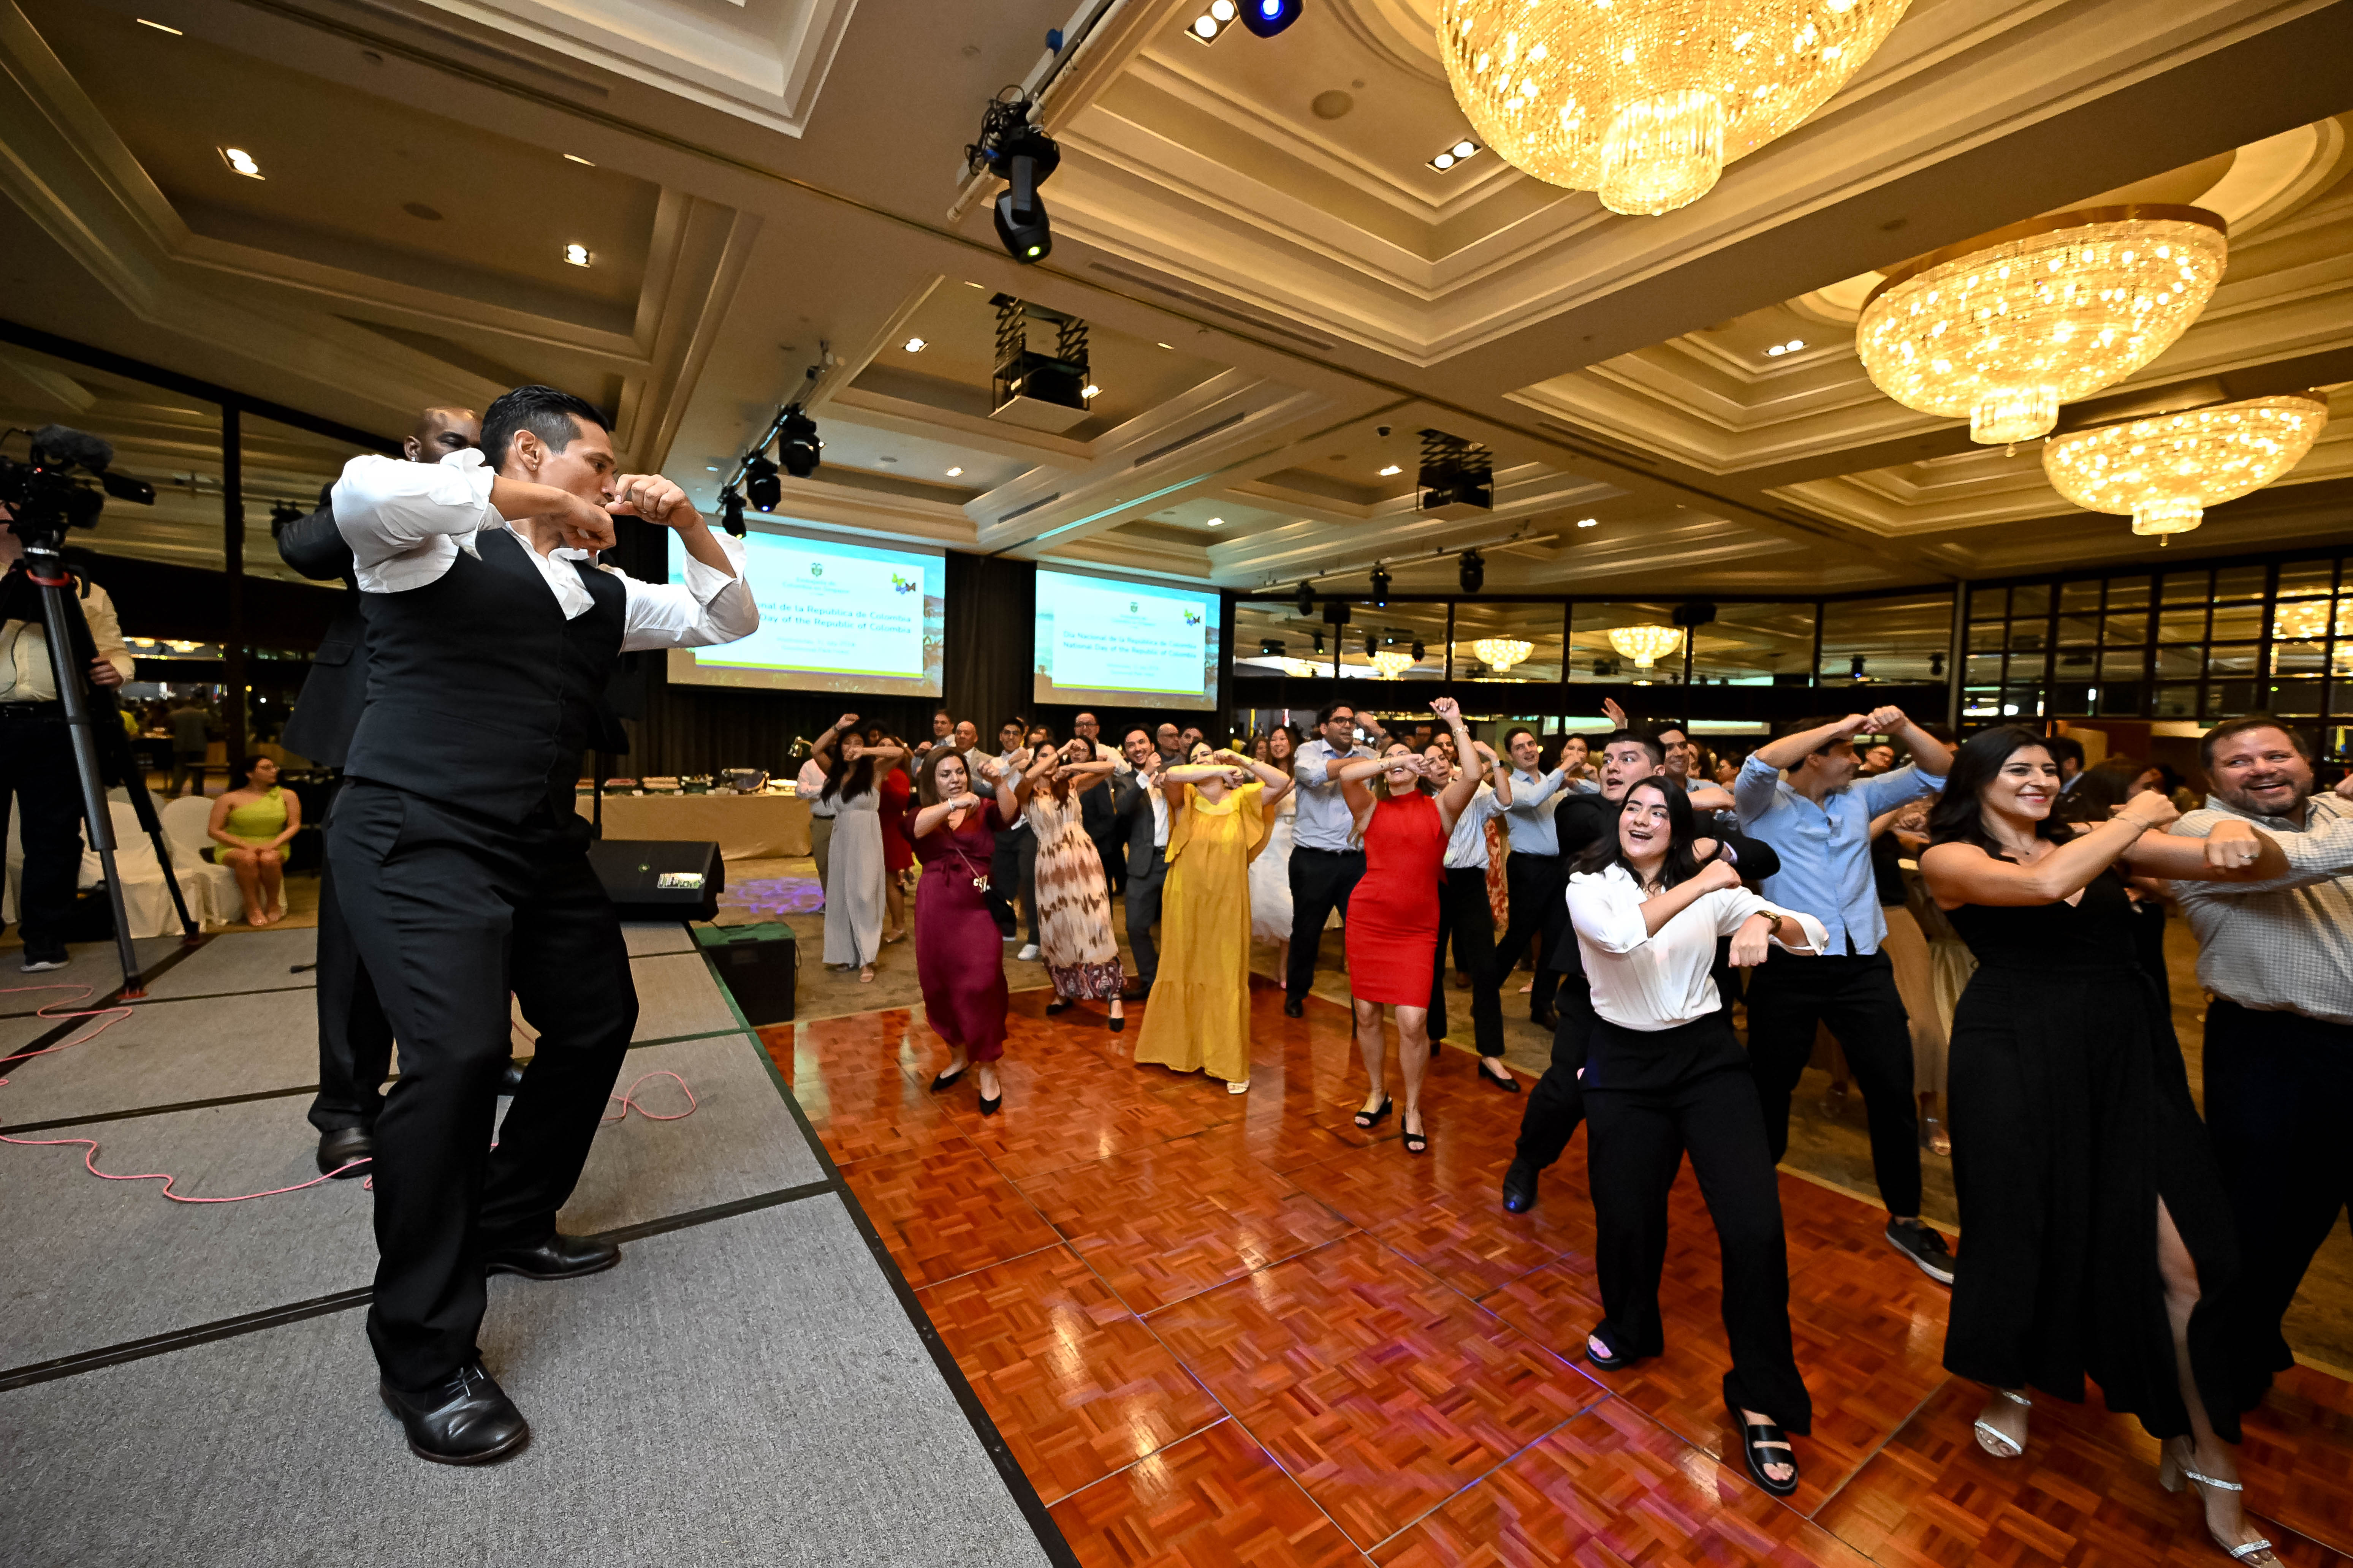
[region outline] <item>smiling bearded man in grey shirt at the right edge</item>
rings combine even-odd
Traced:
[[[2233,1382],[2252,1408],[2294,1363],[2280,1319],[2353,1201],[2339,1143],[2353,1100],[2353,780],[2315,795],[2304,733],[2268,715],[2217,724],[2198,752],[2207,804],[2172,832],[2202,839],[2235,816],[2287,853],[2275,882],[2172,884],[2214,992],[2205,1114],[2238,1222]]]

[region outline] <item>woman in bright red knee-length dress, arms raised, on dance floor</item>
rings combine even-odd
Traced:
[[[1471,731],[1461,708],[1442,696],[1431,712],[1454,733],[1454,755],[1471,755]],[[1438,886],[1445,882],[1447,835],[1471,804],[1478,773],[1452,769],[1440,757],[1417,757],[1398,743],[1381,757],[1358,757],[1332,769],[1355,837],[1365,844],[1365,877],[1348,896],[1348,999],[1355,1004],[1355,1048],[1365,1058],[1372,1091],[1358,1126],[1377,1126],[1388,1114],[1384,1088],[1388,1030],[1381,1009],[1398,1013],[1398,1067],[1405,1077],[1405,1114],[1398,1128],[1405,1150],[1431,1147],[1421,1124],[1421,1074],[1431,1065],[1431,966],[1438,961]]]

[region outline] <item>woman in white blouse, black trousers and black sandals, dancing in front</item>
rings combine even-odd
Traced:
[[[1744,889],[1722,860],[1701,865],[1697,837],[1689,797],[1645,780],[1626,792],[1617,835],[1569,875],[1569,922],[1598,1016],[1581,1077],[1605,1316],[1586,1359],[1609,1371],[1666,1352],[1666,1194],[1689,1150],[1725,1258],[1725,1408],[1748,1474],[1786,1497],[1798,1490],[1786,1434],[1812,1429],[1814,1403],[1791,1352],[1788,1244],[1765,1114],[1713,969],[1722,936],[1737,966],[1762,964],[1767,945],[1821,952],[1826,936],[1812,914]]]

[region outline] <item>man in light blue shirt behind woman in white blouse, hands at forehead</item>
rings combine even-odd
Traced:
[[[1892,773],[1857,778],[1854,736],[1894,736],[1913,757]],[[1748,755],[1732,809],[1748,837],[1781,856],[1765,898],[1812,914],[1831,933],[1824,957],[1772,954],[1748,976],[1748,1067],[1765,1105],[1774,1161],[1788,1152],[1788,1100],[1828,1025],[1847,1053],[1871,1119],[1871,1166],[1887,1204],[1887,1241],[1941,1284],[1953,1255],[1920,1225],[1920,1103],[1913,1098],[1911,1025],[1897,971],[1880,943],[1887,919],[1871,879],[1871,818],[1944,788],[1953,750],[1897,708],[1842,719],[1800,719]]]

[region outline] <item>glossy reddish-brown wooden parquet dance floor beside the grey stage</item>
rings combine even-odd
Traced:
[[[859,1201],[1080,1561],[2181,1563],[2228,1559],[2129,1418],[2038,1401],[2024,1460],[1939,1368],[1946,1291],[1885,1215],[1781,1175],[1814,1392],[1788,1502],[1725,1422],[1715,1232],[1689,1168],[1668,1354],[1581,1356],[1600,1316],[1584,1135],[1506,1215],[1525,1095],[1445,1051],[1431,1152],[1360,1133],[1346,1011],[1254,992],[1252,1088],[1136,1067],[1014,997],[1005,1110],[906,1011],[762,1030]],[[1391,1070],[1395,1072],[1395,1070]],[[1391,1086],[1395,1093],[1395,1084]],[[1727,1460],[1729,1455],[1729,1460]],[[2247,1418],[2249,1509],[2289,1563],[2353,1563],[2353,1387],[2297,1368]]]

